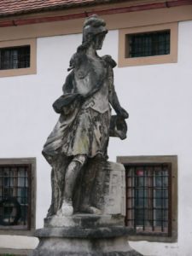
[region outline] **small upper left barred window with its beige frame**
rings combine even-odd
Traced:
[[[0,77],[36,73],[36,39],[0,42]]]

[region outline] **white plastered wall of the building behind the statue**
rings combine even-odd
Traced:
[[[178,62],[114,69],[116,91],[130,113],[125,141],[112,138],[108,154],[178,156],[177,243],[131,242],[144,255],[190,256],[192,251],[192,21],[181,22]],[[38,38],[38,73],[0,79],[1,158],[37,157],[37,228],[50,203],[50,167],[41,155],[44,142],[58,115],[51,105],[61,96],[68,62],[81,35]],[[108,33],[100,55],[118,59],[118,32]],[[13,237],[12,237],[13,238]],[[10,247],[9,236],[0,236],[0,247]],[[13,248],[32,248],[37,240],[14,237]]]

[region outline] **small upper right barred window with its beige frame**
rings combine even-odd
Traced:
[[[119,67],[177,62],[177,23],[119,30]]]

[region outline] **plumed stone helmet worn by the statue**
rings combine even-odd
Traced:
[[[107,33],[106,23],[97,15],[91,15],[84,21],[83,43],[89,41],[93,36],[101,33]]]

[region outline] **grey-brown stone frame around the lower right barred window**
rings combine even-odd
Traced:
[[[177,241],[177,155],[158,155],[158,156],[119,156],[117,162],[124,166],[129,165],[150,165],[150,164],[171,164],[172,166],[172,196],[169,212],[171,214],[171,236],[162,236],[161,234],[136,234],[129,236],[131,241],[160,241],[176,242]]]

